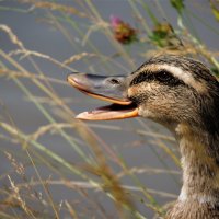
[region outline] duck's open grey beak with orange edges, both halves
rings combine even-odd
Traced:
[[[137,106],[127,97],[126,77],[105,77],[72,73],[68,82],[79,91],[113,104],[80,113],[77,118],[87,120],[112,120],[138,116]]]

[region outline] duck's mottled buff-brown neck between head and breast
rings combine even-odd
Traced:
[[[183,168],[180,201],[219,201],[219,137],[186,125],[176,127]]]

